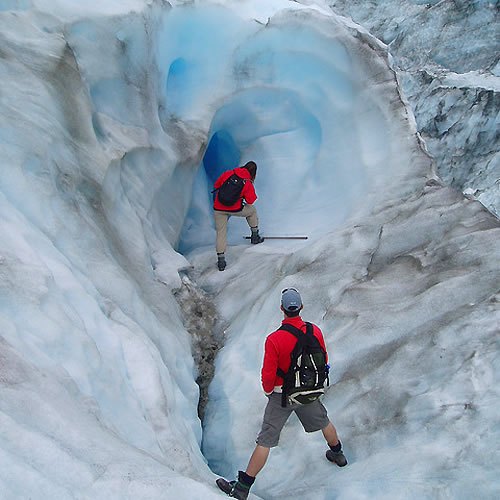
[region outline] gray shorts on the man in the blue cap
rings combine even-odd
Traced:
[[[326,408],[319,399],[307,405],[287,404],[286,408],[283,408],[281,406],[281,394],[273,392],[269,396],[262,428],[257,436],[257,444],[266,448],[277,446],[281,429],[283,429],[292,411],[297,414],[306,432],[322,430],[330,423]]]

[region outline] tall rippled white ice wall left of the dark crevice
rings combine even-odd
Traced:
[[[165,10],[38,6],[0,12],[0,496],[210,498],[191,340],[153,274],[144,196],[180,163],[151,119]],[[159,249],[180,282],[187,263]]]

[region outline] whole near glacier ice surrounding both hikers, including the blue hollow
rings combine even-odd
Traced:
[[[221,498],[287,285],[325,331],[350,466],[292,418],[255,493],[498,496],[498,220],[435,177],[385,45],[304,4],[0,0],[7,499]],[[232,220],[219,273],[210,183],[237,157],[263,231],[311,238],[251,247]],[[225,342],[203,434],[193,286]]]

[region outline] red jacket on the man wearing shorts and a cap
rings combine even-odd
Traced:
[[[304,333],[306,332],[306,324],[300,316],[284,319],[282,325],[284,324],[295,326]],[[316,325],[313,325],[313,334],[326,352],[323,334]],[[285,373],[288,371],[291,363],[290,354],[296,342],[297,338],[285,330],[277,330],[267,337],[261,373],[262,388],[266,394],[273,392],[276,386],[283,385],[283,379],[276,375],[276,370],[279,366]],[[328,363],[328,354],[326,355],[326,362]]]

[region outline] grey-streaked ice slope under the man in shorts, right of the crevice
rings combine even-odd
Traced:
[[[303,318],[325,333],[333,375],[324,402],[350,465],[332,470],[322,436],[306,435],[293,417],[255,493],[495,498],[498,235],[479,203],[430,182],[293,254],[246,252],[229,282],[205,271],[228,337],[205,421],[214,470],[234,474],[253,449],[266,403],[264,339],[280,324],[280,290],[293,285]],[[195,260],[203,264],[210,259]]]

